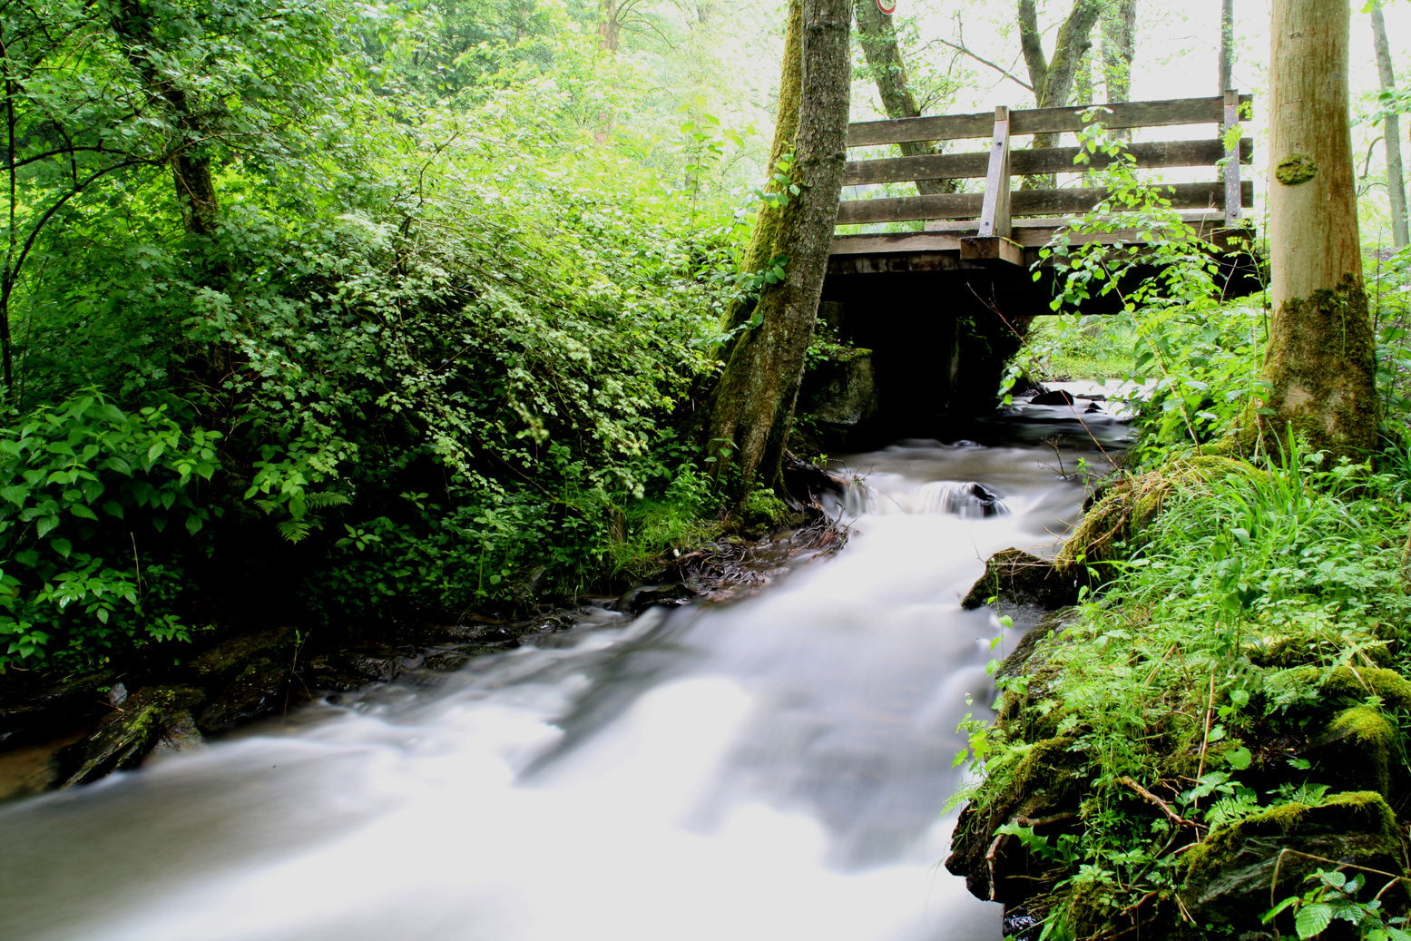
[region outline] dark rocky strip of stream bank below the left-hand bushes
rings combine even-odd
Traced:
[[[827,485],[841,492],[825,474],[794,468],[793,475],[806,494]],[[207,739],[313,700],[454,672],[471,657],[542,643],[604,618],[745,597],[797,560],[845,543],[847,528],[814,512],[801,526],[677,550],[619,597],[588,595],[569,607],[526,600],[518,617],[467,614],[452,625],[389,624],[351,636],[285,625],[178,649],[172,663],[147,657],[69,676],[11,673],[0,693],[0,801],[89,784],[203,749]]]

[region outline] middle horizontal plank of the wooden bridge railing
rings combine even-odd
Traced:
[[[1079,147],[1044,147],[1040,150],[1016,150],[1010,152],[1010,172],[1015,176],[1031,174],[1074,174],[1101,169],[1112,164],[1112,157],[1094,154],[1088,164],[1074,164]],[[1254,159],[1254,140],[1246,137],[1239,142],[1240,162]],[[1208,141],[1161,141],[1153,144],[1129,144],[1126,152],[1140,168],[1157,166],[1213,166],[1225,158],[1225,142]],[[916,179],[976,179],[985,176],[989,155],[979,154],[927,154],[921,157],[890,157],[885,159],[864,159],[848,164],[842,176],[844,186],[862,183],[904,183]]]

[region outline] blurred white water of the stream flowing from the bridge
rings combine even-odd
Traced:
[[[959,598],[1078,515],[1053,457],[852,457],[873,512],[755,598],[600,612],[0,808],[0,938],[998,940],[935,865],[999,632]],[[935,481],[1009,512],[937,512]]]

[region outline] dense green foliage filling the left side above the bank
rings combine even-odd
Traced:
[[[594,17],[0,13],[0,670],[270,607],[457,617],[708,528],[670,429],[714,368],[748,133],[697,96],[595,142],[649,75]]]

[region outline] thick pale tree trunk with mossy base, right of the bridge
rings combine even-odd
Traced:
[[[1274,0],[1270,56],[1270,303],[1263,423],[1314,450],[1363,454],[1377,436],[1371,319],[1362,285],[1348,119],[1345,0]]]

